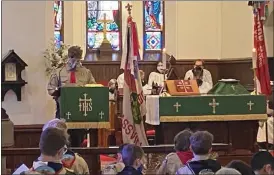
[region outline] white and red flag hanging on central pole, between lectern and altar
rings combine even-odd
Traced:
[[[121,69],[124,70],[122,135],[124,143],[148,145],[143,117],[145,98],[138,68],[139,43],[136,23],[128,18]]]

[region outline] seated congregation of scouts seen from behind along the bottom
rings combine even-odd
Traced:
[[[274,157],[269,152],[255,153],[250,165],[239,160],[221,165],[218,155],[212,151],[213,141],[214,136],[208,131],[179,132],[174,138],[174,152],[169,153],[154,172],[147,170],[147,156],[142,147],[125,143],[119,146],[116,162],[105,166],[102,174],[273,174]],[[90,174],[91,165],[71,151],[69,145],[66,123],[59,119],[49,121],[40,137],[40,156],[21,174]]]

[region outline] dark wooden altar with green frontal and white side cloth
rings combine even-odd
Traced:
[[[266,120],[263,95],[147,96],[146,123],[155,126],[156,144],[171,144],[189,128],[207,130],[215,143],[254,150],[258,121]]]

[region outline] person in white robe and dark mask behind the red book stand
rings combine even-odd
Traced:
[[[212,82],[212,76],[211,73],[204,69],[204,62],[203,60],[196,60],[194,64],[194,69],[197,67],[201,67],[203,70],[203,76],[200,77],[202,80],[202,84],[199,86],[199,91],[201,94],[206,94],[210,89],[213,87],[213,82]],[[185,75],[185,80],[195,80],[197,77],[194,76],[193,74],[193,69],[189,70],[186,72]]]

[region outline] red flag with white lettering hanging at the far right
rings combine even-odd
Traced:
[[[266,54],[261,8],[254,9],[254,48],[256,49],[256,86],[259,94],[270,95],[270,75]]]

